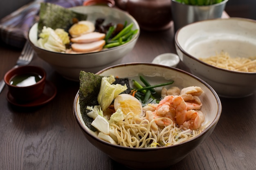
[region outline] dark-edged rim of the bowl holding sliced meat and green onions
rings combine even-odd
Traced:
[[[117,9],[117,8],[111,8],[111,7],[105,7],[105,6],[94,6],[94,5],[92,5],[92,6],[83,6],[83,5],[81,5],[81,6],[76,6],[76,7],[70,7],[70,8],[68,8],[68,9],[79,9],[79,8],[95,8],[95,10],[94,11],[97,11],[96,9],[98,9],[98,8],[105,8],[105,9],[109,9],[109,10],[111,10],[111,11],[119,11],[119,12],[121,12],[121,13],[124,13],[125,15],[127,15],[129,18],[131,18],[132,19],[132,22],[134,22],[135,23],[135,25],[137,26],[137,28],[138,28],[138,31],[137,31],[137,33],[135,34],[135,36],[130,40],[130,41],[128,41],[128,42],[126,42],[125,44],[122,44],[122,45],[120,45],[120,46],[116,46],[116,47],[112,47],[112,48],[110,48],[110,49],[106,49],[106,50],[101,50],[101,51],[97,51],[97,52],[90,52],[90,53],[63,53],[63,52],[56,52],[56,51],[48,51],[48,50],[46,50],[46,49],[42,49],[42,48],[40,48],[40,47],[38,47],[38,46],[36,46],[31,40],[30,40],[30,33],[31,33],[31,28],[33,27],[33,26],[36,26],[37,24],[38,24],[38,22],[36,22],[36,23],[34,23],[31,27],[30,27],[30,29],[29,29],[29,31],[28,31],[28,36],[27,36],[27,40],[29,41],[29,43],[31,44],[31,46],[33,46],[34,48],[36,48],[36,49],[40,49],[40,50],[43,50],[43,51],[47,51],[47,52],[49,52],[49,53],[57,53],[57,54],[63,54],[63,55],[89,55],[89,54],[98,54],[98,53],[103,53],[103,52],[106,52],[106,51],[112,51],[112,50],[115,50],[115,49],[118,49],[118,48],[120,48],[120,47],[123,47],[123,46],[126,46],[127,44],[130,44],[130,43],[132,43],[133,41],[135,41],[138,37],[139,37],[139,35],[140,35],[140,27],[139,27],[139,24],[138,24],[138,22],[135,20],[135,18],[134,17],[132,17],[132,15],[130,15],[129,13],[126,13],[126,12],[124,12],[124,11],[122,11],[121,9]],[[86,10],[85,10],[86,11]],[[86,12],[85,12],[86,13]]]

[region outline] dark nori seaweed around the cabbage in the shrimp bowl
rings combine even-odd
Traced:
[[[87,113],[90,110],[87,110],[87,106],[96,106],[99,105],[97,97],[101,87],[101,79],[103,76],[95,75],[94,73],[88,73],[85,71],[80,71],[80,88],[79,88],[79,104],[82,114],[83,121],[85,125],[92,131],[97,131],[94,126],[91,125],[93,119],[87,116]],[[127,86],[127,90],[122,92],[130,94],[131,88],[128,78],[116,78],[113,84],[121,84]]]

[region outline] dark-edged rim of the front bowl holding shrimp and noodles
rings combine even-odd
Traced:
[[[94,140],[96,141],[99,141],[101,144],[104,144],[104,145],[108,145],[108,146],[111,146],[111,147],[114,147],[114,148],[120,148],[120,149],[125,149],[125,150],[132,150],[132,151],[142,151],[145,149],[150,151],[150,150],[160,150],[160,149],[166,149],[166,148],[175,148],[175,147],[179,147],[180,145],[183,145],[183,144],[186,144],[186,143],[189,143],[191,141],[195,141],[197,139],[199,139],[200,137],[202,137],[207,131],[211,130],[211,128],[214,128],[214,126],[216,126],[216,124],[218,123],[218,120],[220,119],[220,115],[222,113],[222,104],[221,104],[221,101],[220,101],[220,98],[219,96],[217,95],[216,91],[214,91],[214,89],[209,85],[207,84],[206,82],[204,82],[204,80],[196,77],[195,75],[192,75],[191,73],[188,73],[186,71],[183,71],[179,68],[174,68],[174,67],[169,67],[169,66],[163,66],[163,65],[159,65],[159,64],[153,64],[153,63],[141,63],[141,62],[133,62],[133,63],[125,63],[125,64],[117,64],[117,65],[114,65],[114,66],[109,66],[107,68],[104,68],[103,70],[97,72],[96,74],[99,75],[101,73],[103,73],[104,71],[108,70],[108,69],[111,69],[111,68],[118,68],[118,67],[123,67],[123,66],[130,66],[130,65],[147,65],[147,66],[155,66],[155,67],[164,67],[164,68],[168,68],[170,70],[175,70],[175,71],[178,71],[178,72],[181,72],[183,74],[186,74],[186,75],[189,75],[191,76],[192,78],[194,79],[197,79],[198,81],[200,81],[202,84],[204,84],[205,86],[207,86],[207,88],[209,88],[209,90],[212,92],[212,94],[214,95],[215,99],[216,99],[216,102],[218,104],[218,113],[216,114],[216,117],[213,119],[213,121],[209,124],[209,126],[207,128],[205,128],[199,135],[197,135],[196,137],[188,140],[188,141],[184,141],[180,144],[175,144],[175,145],[172,145],[172,146],[165,146],[165,147],[159,147],[159,148],[130,148],[130,147],[126,147],[126,146],[120,146],[120,145],[115,145],[115,144],[110,144],[109,142],[107,141],[104,141],[102,139],[99,139],[97,136],[95,135],[92,135],[90,132],[88,132],[87,129],[85,129],[83,127],[83,125],[80,124],[80,119],[76,113],[76,106],[77,106],[77,103],[79,102],[79,91],[76,93],[76,96],[74,98],[74,101],[73,101],[73,115],[74,115],[74,118],[76,119],[76,122],[78,123],[79,127],[81,128],[81,130],[83,130],[83,132],[85,132],[87,135],[89,135],[91,138],[93,138]]]

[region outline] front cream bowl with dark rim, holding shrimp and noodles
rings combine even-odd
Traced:
[[[220,99],[211,86],[194,75],[177,68],[151,63],[129,63],[105,68],[97,74],[103,76],[114,75],[119,78],[128,77],[130,81],[138,79],[139,75],[144,75],[147,76],[147,80],[151,85],[168,82],[171,79],[174,81],[173,86],[200,86],[204,91],[200,96],[203,103],[201,110],[205,115],[204,122],[207,124],[203,132],[189,141],[161,148],[128,148],[110,144],[99,139],[85,125],[80,112],[79,94],[76,94],[73,103],[74,118],[85,138],[99,150],[109,155],[114,161],[129,168],[144,170],[162,169],[181,161],[211,135],[222,112]]]

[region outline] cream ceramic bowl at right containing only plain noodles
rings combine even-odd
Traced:
[[[256,90],[256,72],[229,71],[198,60],[221,51],[230,57],[256,56],[256,21],[245,18],[195,22],[175,34],[177,54],[191,73],[207,82],[221,97],[239,98]]]

